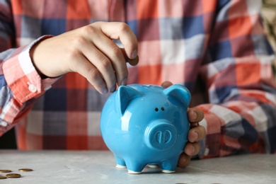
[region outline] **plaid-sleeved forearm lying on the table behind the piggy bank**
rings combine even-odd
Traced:
[[[207,132],[200,158],[237,152],[275,153],[275,105],[233,101],[229,106],[200,105]]]

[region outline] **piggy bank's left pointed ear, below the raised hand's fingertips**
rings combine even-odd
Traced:
[[[128,103],[133,98],[143,96],[143,93],[140,93],[134,88],[129,86],[120,86],[117,91],[117,109],[119,110],[120,115],[124,115],[125,110],[127,109]]]

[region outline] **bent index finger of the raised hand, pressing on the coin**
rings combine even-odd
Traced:
[[[138,42],[136,35],[126,23],[99,22],[100,28],[110,39],[120,40],[125,47],[127,57],[134,59],[138,53]]]

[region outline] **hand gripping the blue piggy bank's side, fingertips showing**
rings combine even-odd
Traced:
[[[168,86],[171,85],[173,85],[171,82],[165,81],[161,86],[168,88]],[[204,117],[203,111],[199,108],[188,108],[187,113],[190,121],[190,130],[188,132],[188,143],[178,159],[179,167],[189,165],[191,157],[197,155],[200,151],[200,144],[198,141],[203,139],[206,135],[205,127],[198,125],[198,122],[200,122]]]

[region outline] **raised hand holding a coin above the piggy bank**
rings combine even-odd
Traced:
[[[113,40],[120,40],[125,49]],[[125,23],[96,22],[38,42],[30,50],[41,76],[78,72],[100,93],[127,84],[127,65],[137,64],[137,38]]]

